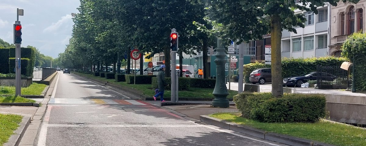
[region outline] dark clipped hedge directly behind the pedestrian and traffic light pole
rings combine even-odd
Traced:
[[[178,82],[178,90],[182,91],[182,90],[189,90],[190,87],[190,83],[191,83],[191,78],[186,78],[186,77],[180,77]],[[170,90],[171,89],[171,78],[165,78],[165,81],[167,81],[167,85],[165,85],[165,90]],[[157,77],[153,77],[152,78],[152,87],[154,89],[158,88],[158,78]]]

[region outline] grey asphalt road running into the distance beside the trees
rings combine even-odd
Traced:
[[[191,122],[74,74],[59,73],[56,86],[34,145],[284,146]]]

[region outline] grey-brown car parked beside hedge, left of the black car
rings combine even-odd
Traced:
[[[249,81],[252,84],[264,84],[266,82],[272,82],[272,74],[270,68],[254,69],[250,73]]]

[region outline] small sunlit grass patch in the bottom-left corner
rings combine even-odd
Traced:
[[[14,130],[19,127],[22,121],[20,115],[3,115],[0,114],[0,146],[8,141],[9,137],[14,133]]]

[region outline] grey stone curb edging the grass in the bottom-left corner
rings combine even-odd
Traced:
[[[8,142],[5,143],[4,146],[18,146],[29,123],[30,116],[23,116],[22,122],[19,123],[19,127],[14,131],[14,134],[10,136]]]

